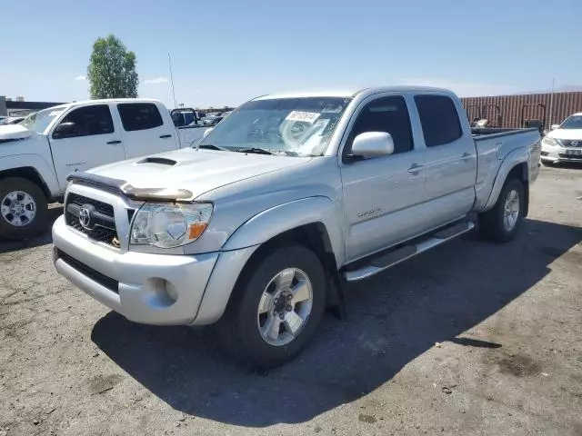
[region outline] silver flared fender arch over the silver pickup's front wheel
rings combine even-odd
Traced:
[[[222,250],[238,250],[266,243],[278,234],[296,227],[322,223],[326,227],[329,243],[336,257],[336,264],[341,266],[345,259],[343,217],[341,209],[324,196],[308,197],[279,204],[256,214],[236,229]]]

